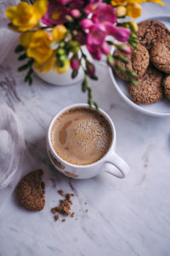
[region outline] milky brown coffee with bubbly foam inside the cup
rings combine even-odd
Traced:
[[[93,108],[72,108],[54,121],[51,129],[54,151],[65,161],[78,166],[100,160],[112,141],[107,119]]]

